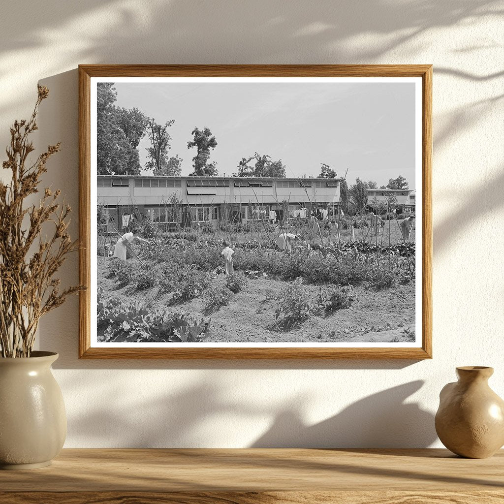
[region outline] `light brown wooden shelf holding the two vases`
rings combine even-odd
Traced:
[[[0,471],[2,504],[504,502],[504,450],[63,450]]]

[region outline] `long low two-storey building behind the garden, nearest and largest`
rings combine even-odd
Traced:
[[[337,212],[340,178],[164,177],[98,175],[104,230],[122,230],[132,216],[170,228],[219,221],[305,217],[313,207]]]

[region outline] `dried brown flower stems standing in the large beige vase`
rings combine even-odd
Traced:
[[[40,318],[65,302],[81,285],[59,290],[54,275],[66,256],[78,249],[78,240],[68,233],[71,208],[56,203],[61,191],[49,187],[39,205],[24,208],[25,199],[39,192],[46,162],[59,151],[59,143],[49,145],[35,162],[28,159],[35,150],[30,134],[36,131],[36,117],[49,90],[38,86],[38,98],[29,120],[15,121],[7,147],[4,169],[12,171],[9,185],[0,182],[0,346],[2,357],[29,357],[35,343]],[[49,239],[42,227],[54,226]]]

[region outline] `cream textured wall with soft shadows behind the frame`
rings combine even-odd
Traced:
[[[439,446],[433,413],[456,365],[494,366],[504,396],[503,10],[487,0],[4,0],[0,145],[37,81],[47,85],[38,145],[62,141],[47,182],[75,208],[80,63],[434,65],[434,359],[79,361],[72,299],[40,331],[40,347],[61,355],[66,446]],[[77,281],[77,258],[64,277]]]

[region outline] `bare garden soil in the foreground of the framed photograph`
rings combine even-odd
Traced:
[[[170,295],[159,294],[158,288],[132,290],[131,286],[116,289],[107,278],[110,259],[98,257],[98,285],[106,294],[131,302],[132,296],[151,309],[167,309],[171,313],[189,312],[194,318],[210,319],[206,342],[250,343],[388,343],[415,341],[415,285],[399,285],[375,291],[355,286],[357,299],[348,309],[327,317],[312,317],[298,327],[282,330],[275,320],[275,296],[288,282],[272,278],[250,279],[227,306],[213,313],[204,313],[204,300],[193,299],[168,305]],[[215,283],[223,286],[225,275]],[[305,284],[307,295],[317,299],[320,287]],[[98,335],[99,337],[100,335]]]

